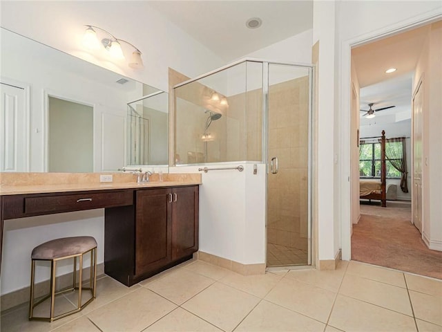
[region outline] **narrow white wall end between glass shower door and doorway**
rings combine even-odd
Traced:
[[[335,259],[339,252],[340,232],[336,228],[338,186],[334,182],[338,171],[338,154],[334,140],[335,104],[335,3],[314,1],[313,40],[319,41],[318,114],[316,114],[316,146],[318,160],[318,259]]]

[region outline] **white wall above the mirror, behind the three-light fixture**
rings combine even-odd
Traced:
[[[0,15],[3,28],[163,91],[169,89],[169,66],[195,77],[224,64],[148,1],[1,1]],[[137,46],[144,70],[134,71],[124,60],[111,61],[104,53],[86,51],[81,44],[84,24],[99,26]],[[131,54],[132,49],[127,50]]]

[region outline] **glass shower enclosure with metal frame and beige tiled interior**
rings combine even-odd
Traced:
[[[175,165],[267,164],[267,267],[311,264],[312,77],[247,59],[174,88]]]

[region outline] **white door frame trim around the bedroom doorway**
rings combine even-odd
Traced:
[[[351,174],[351,122],[350,111],[352,104],[352,80],[351,80],[351,59],[352,47],[361,46],[369,42],[391,37],[398,33],[403,33],[406,30],[419,28],[426,24],[430,24],[440,19],[440,11],[433,10],[425,14],[412,17],[399,23],[390,24],[382,29],[374,32],[366,33],[359,37],[344,40],[340,46],[340,98],[338,100],[340,107],[338,107],[338,114],[340,119],[340,132],[338,133],[338,146],[341,154],[340,171],[338,178],[338,190],[340,192],[340,201],[338,203],[338,210],[340,221],[340,247],[342,259],[349,261],[352,258],[352,241],[351,241],[351,212],[352,212],[352,196],[351,187],[352,181],[356,181]]]

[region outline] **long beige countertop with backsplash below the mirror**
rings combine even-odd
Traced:
[[[148,183],[136,183],[136,177],[132,174],[112,174],[113,182],[100,183],[99,175],[101,174],[104,173],[1,173],[0,195],[141,189],[201,184],[201,174],[163,174],[164,181],[158,181],[157,174],[153,174],[151,182]]]

